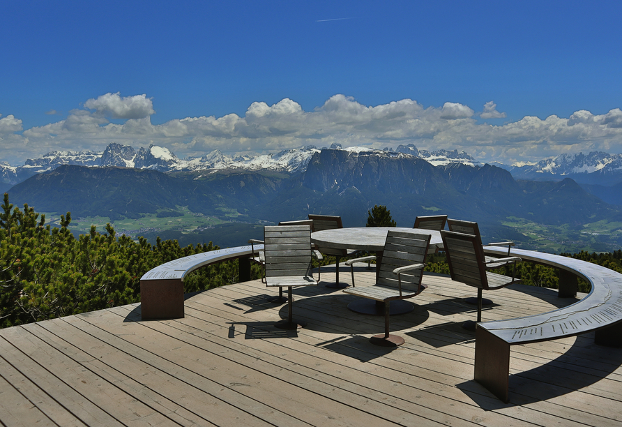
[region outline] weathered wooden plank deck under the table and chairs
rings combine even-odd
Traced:
[[[342,281],[349,281],[346,269]],[[357,285],[374,271],[361,268]],[[334,268],[322,269],[334,281]],[[622,349],[593,336],[513,347],[510,403],[473,381],[473,288],[444,276],[391,319],[391,351],[368,337],[340,290],[294,290],[287,306],[259,280],[188,295],[185,318],[140,321],[123,306],[0,330],[3,426],[622,426]],[[576,299],[524,285],[487,292],[484,320],[543,313]],[[579,296],[581,297],[581,296]]]

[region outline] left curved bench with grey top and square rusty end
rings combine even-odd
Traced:
[[[240,281],[250,280],[250,257],[264,245],[237,246],[197,253],[160,264],[140,278],[142,320],[180,319],[183,317],[183,278],[190,271],[216,262],[240,258]]]

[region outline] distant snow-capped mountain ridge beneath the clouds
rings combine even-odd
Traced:
[[[425,160],[434,166],[446,166],[459,163],[468,166],[483,166],[464,151],[437,151],[418,150],[414,144],[400,145],[395,149],[367,149],[363,147],[349,147],[343,149],[338,143],[331,145],[331,149],[338,149],[350,153],[386,153],[388,156],[408,154]],[[268,170],[285,172],[287,174],[301,174],[305,172],[312,156],[321,149],[312,145],[299,149],[290,149],[278,153],[261,154],[257,156],[229,156],[219,150],[211,151],[204,156],[180,159],[165,147],[150,145],[146,149],[141,147],[136,151],[129,145],[112,142],[105,151],[52,151],[45,156],[26,160],[22,166],[12,166],[0,162],[0,184],[3,188],[10,188],[24,179],[37,173],[54,170],[61,165],[79,165],[89,167],[135,167],[150,169],[159,172],[196,172],[203,170]],[[609,154],[593,151],[587,155],[562,154],[546,158],[538,163],[514,165],[498,165],[508,170],[515,179],[529,179],[536,181],[561,181],[572,178],[582,185],[614,186],[622,182],[622,154]],[[597,190],[595,190],[597,191]],[[610,200],[614,195],[609,190],[598,190]]]

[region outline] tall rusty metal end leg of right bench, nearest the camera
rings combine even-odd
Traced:
[[[508,402],[510,345],[478,327],[475,333],[475,380]]]

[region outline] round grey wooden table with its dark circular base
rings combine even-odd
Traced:
[[[376,253],[376,264],[380,264],[388,230],[400,230],[401,232],[412,232],[413,234],[430,234],[432,236],[430,248],[437,248],[443,245],[440,232],[424,230],[423,228],[404,227],[333,228],[332,230],[311,233],[311,241],[319,248],[356,249],[374,252]],[[378,274],[378,270],[376,274]],[[348,308],[356,313],[384,316],[384,303],[377,304],[376,301],[367,298],[352,301],[348,304]],[[414,310],[414,305],[409,301],[401,299],[391,301],[391,315],[409,313],[412,310]]]

